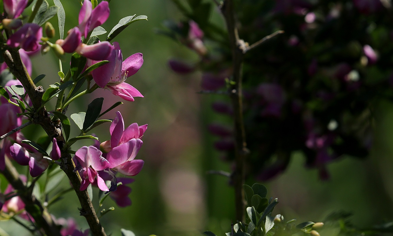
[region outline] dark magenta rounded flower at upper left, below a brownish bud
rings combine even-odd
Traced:
[[[39,47],[42,28],[38,24],[26,23],[7,40],[11,48],[21,47],[25,51],[34,51]]]

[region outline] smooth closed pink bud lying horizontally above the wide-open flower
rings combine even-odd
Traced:
[[[75,52],[92,60],[105,60],[112,53],[113,47],[110,42],[99,42],[92,45],[80,44]]]

